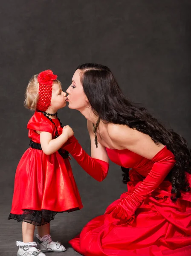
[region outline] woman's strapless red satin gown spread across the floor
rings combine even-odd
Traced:
[[[117,165],[132,168],[128,192],[69,241],[74,250],[84,256],[191,256],[191,193],[182,192],[181,198],[172,202],[171,183],[163,180],[128,222],[113,218],[113,210],[141,186],[154,162],[127,149],[107,148],[107,154]],[[187,179],[191,185],[191,175]]]

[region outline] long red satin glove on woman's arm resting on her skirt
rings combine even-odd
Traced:
[[[165,179],[174,166],[174,154],[166,146],[152,159],[153,167],[145,180],[114,209],[112,216],[121,220],[130,220],[139,205]]]

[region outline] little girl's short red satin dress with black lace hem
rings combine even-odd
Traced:
[[[61,134],[59,120],[52,120]],[[27,125],[29,138],[40,143],[36,131],[49,132],[55,138],[55,125],[43,113],[35,112]],[[9,219],[41,225],[48,223],[58,212],[82,207],[68,158],[61,157],[58,151],[46,155],[42,150],[28,148],[17,166]]]

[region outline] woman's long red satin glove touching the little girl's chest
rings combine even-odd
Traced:
[[[90,157],[74,136],[70,137],[62,148],[67,150],[84,171],[95,180],[102,181],[107,176],[109,163]]]

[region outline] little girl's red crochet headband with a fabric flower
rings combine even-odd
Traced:
[[[45,70],[38,75],[37,79],[39,82],[37,110],[46,111],[51,105],[52,84],[57,79],[57,75],[54,75],[52,70]]]

